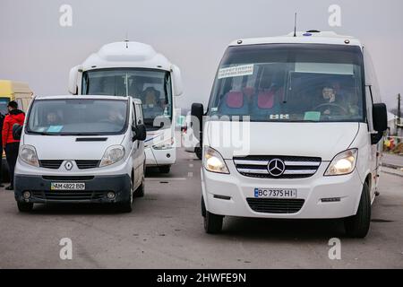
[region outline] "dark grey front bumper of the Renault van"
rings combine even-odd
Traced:
[[[14,196],[19,202],[30,203],[120,203],[130,198],[131,178],[127,175],[94,176],[84,179],[75,178],[60,180],[60,176],[49,178],[48,176],[15,175]],[[89,179],[90,178],[90,179]],[[76,191],[52,191],[51,182],[82,182],[85,190]],[[24,191],[30,191],[30,198],[24,199]],[[108,199],[107,193],[114,192],[115,198]]]

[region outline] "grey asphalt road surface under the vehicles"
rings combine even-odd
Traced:
[[[18,213],[0,189],[0,268],[402,268],[403,177],[382,173],[381,196],[365,239],[348,239],[339,221],[226,218],[204,233],[201,161],[180,150],[168,176],[150,172],[133,213],[98,205],[36,205]],[[60,239],[73,259],[59,256]],[[328,243],[341,240],[341,259]]]

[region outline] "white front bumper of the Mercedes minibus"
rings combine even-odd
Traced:
[[[230,172],[228,175],[201,169],[202,194],[210,213],[287,219],[332,219],[356,214],[363,189],[363,182],[356,170],[345,176],[324,177],[329,162],[322,162],[311,178],[249,178],[238,173],[233,161],[226,162]],[[256,187],[296,189],[297,199],[303,200],[304,204],[296,213],[255,212],[247,198],[254,198]],[[339,201],[322,201],[330,198],[339,198]]]

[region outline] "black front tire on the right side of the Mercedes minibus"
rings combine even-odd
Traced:
[[[371,223],[371,198],[369,187],[365,183],[356,215],[347,217],[344,226],[348,237],[364,239]]]

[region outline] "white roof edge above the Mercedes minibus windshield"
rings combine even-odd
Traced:
[[[330,45],[345,45],[359,46],[362,48],[361,42],[351,36],[339,35],[333,31],[297,31],[296,37],[294,32],[285,36],[266,37],[266,38],[250,38],[237,39],[229,44],[229,46],[244,46],[258,44],[330,44]]]

